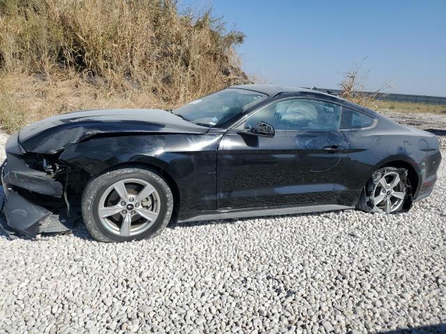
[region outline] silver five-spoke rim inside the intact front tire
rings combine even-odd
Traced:
[[[109,232],[133,237],[148,230],[160,214],[160,195],[150,183],[125,179],[107,188],[99,200],[100,222]]]

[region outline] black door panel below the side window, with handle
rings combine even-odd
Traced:
[[[325,150],[325,148],[339,148]],[[217,206],[259,207],[334,202],[340,132],[279,131],[273,138],[230,130],[217,156]]]

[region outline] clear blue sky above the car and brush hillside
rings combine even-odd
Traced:
[[[367,89],[446,96],[446,0],[178,3],[245,33],[243,68],[270,84],[337,88],[362,63]]]

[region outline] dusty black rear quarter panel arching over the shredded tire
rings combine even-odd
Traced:
[[[348,200],[357,201],[363,186],[375,170],[394,161],[412,166],[418,176],[417,193],[428,179],[436,180],[440,164],[438,140],[433,134],[403,127],[383,119],[371,129],[343,130],[348,141],[349,154],[340,189],[348,189]]]

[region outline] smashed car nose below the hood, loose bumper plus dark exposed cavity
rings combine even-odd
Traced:
[[[27,153],[18,134],[10,136],[0,168],[0,227],[10,238],[72,230],[80,215],[64,189],[68,170],[54,154]]]

